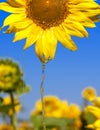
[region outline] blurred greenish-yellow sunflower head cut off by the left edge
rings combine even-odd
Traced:
[[[19,87],[22,72],[17,63],[0,59],[0,91],[12,91]]]

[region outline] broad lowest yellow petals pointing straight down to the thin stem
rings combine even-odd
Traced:
[[[53,30],[46,30],[39,37],[35,44],[35,51],[42,62],[47,62],[55,56],[57,39],[53,35]]]

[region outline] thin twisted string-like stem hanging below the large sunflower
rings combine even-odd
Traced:
[[[43,123],[43,130],[46,130],[46,123],[45,123],[45,113],[44,113],[44,78],[45,78],[45,64],[42,64],[42,80],[40,85],[40,94],[41,94],[41,103],[42,103],[42,123]]]

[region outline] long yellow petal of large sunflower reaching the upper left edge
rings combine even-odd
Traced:
[[[4,10],[10,13],[25,13],[25,8],[14,8],[6,2],[0,3],[0,10]]]

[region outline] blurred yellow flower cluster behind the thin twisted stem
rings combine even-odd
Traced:
[[[44,110],[45,116],[56,117],[56,118],[69,118],[79,119],[81,111],[80,108],[75,104],[68,105],[67,101],[60,100],[56,96],[45,96],[44,97]],[[41,101],[36,102],[36,107],[32,112],[33,115],[42,114]]]

